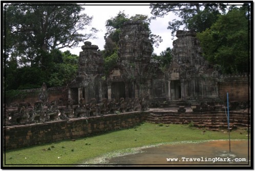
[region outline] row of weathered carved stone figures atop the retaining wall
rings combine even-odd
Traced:
[[[74,100],[69,99],[66,106],[63,106],[60,100],[55,100],[51,103],[37,101],[34,103],[34,106],[27,102],[12,103],[9,107],[5,105],[5,115],[3,115],[5,125],[31,124],[68,118],[148,110],[148,101],[145,97],[134,100],[130,98],[124,100],[124,98],[121,98],[118,103],[116,103],[115,99],[108,101],[104,98],[99,104],[96,103],[94,98],[86,104],[82,98],[79,100],[79,105],[73,105],[73,103]]]

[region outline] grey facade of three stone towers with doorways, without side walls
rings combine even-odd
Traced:
[[[103,76],[103,58],[97,45],[84,42],[76,79],[69,85],[69,98],[78,104],[96,99],[118,103],[146,100],[154,103],[219,101],[220,74],[204,59],[196,33],[177,31],[173,59],[168,69],[160,70],[151,58],[153,46],[142,22],[124,23],[118,43],[118,61]]]

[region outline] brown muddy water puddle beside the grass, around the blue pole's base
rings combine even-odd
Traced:
[[[250,141],[177,143],[142,149],[141,153],[108,160],[120,166],[250,166]]]

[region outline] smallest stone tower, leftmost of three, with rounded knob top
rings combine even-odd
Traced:
[[[79,54],[77,76],[69,85],[69,98],[78,104],[80,99],[89,102],[92,98],[97,101],[102,98],[101,74],[103,72],[103,58],[98,52],[98,46],[86,41]]]

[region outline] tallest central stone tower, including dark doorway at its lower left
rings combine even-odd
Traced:
[[[143,22],[125,22],[118,45],[118,62],[107,78],[108,99],[134,99],[150,93],[148,65],[153,46]]]

